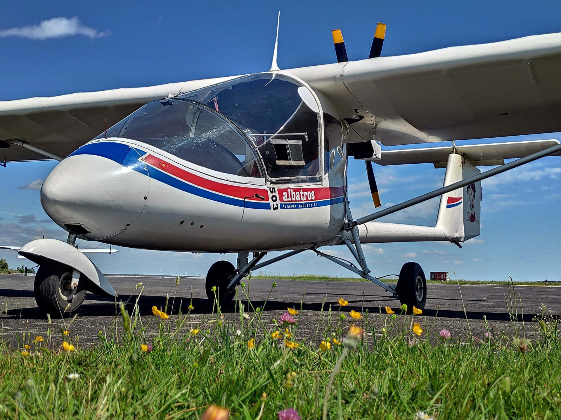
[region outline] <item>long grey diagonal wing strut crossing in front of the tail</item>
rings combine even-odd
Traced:
[[[557,153],[557,152],[561,152],[561,144],[557,144],[556,146],[548,147],[539,152],[532,153],[531,155],[521,157],[515,161],[509,162],[506,165],[498,166],[489,171],[481,172],[481,174],[479,175],[471,176],[470,178],[466,178],[464,180],[458,181],[457,183],[444,186],[443,188],[439,188],[430,193],[420,195],[419,197],[412,198],[411,200],[407,200],[403,203],[396,204],[395,206],[385,208],[383,210],[380,210],[379,212],[375,212],[369,214],[368,216],[361,217],[355,221],[348,221],[347,223],[344,223],[343,228],[344,230],[352,232],[353,228],[355,228],[357,225],[363,225],[366,222],[371,222],[373,220],[379,219],[380,217],[387,216],[388,214],[392,214],[400,210],[403,210],[404,208],[415,206],[415,204],[425,202],[426,200],[430,200],[431,198],[438,197],[439,195],[449,193],[450,191],[456,190],[458,188],[463,188],[466,185],[479,182],[481,180],[490,178],[491,176],[502,174],[503,172],[514,169],[515,167],[526,165],[537,159],[540,159],[545,156],[553,155],[553,153]]]

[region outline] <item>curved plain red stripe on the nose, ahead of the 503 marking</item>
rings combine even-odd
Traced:
[[[222,184],[217,181],[192,174],[191,172],[187,172],[186,170],[181,169],[180,167],[177,167],[167,161],[163,161],[162,159],[153,155],[145,156],[144,160],[147,164],[152,165],[159,170],[167,172],[168,174],[173,175],[176,178],[182,179],[183,181],[187,181],[190,184],[200,186],[216,193],[226,194],[230,195],[231,197],[242,199],[246,198],[247,200],[261,201],[261,198],[255,197],[255,194],[259,194],[261,197],[265,197],[265,200],[269,200],[268,190],[266,190],[265,188],[251,188],[245,186]]]

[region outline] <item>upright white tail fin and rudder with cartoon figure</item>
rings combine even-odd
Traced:
[[[444,185],[447,186],[470,176],[480,170],[468,162],[462,164],[462,156],[448,156]],[[481,182],[458,188],[440,198],[436,226],[453,242],[461,242],[480,234]]]

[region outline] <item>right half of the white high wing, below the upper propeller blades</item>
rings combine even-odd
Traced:
[[[561,131],[561,33],[292,72],[386,146]]]

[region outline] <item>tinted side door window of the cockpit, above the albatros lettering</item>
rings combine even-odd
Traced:
[[[298,91],[298,88],[301,88]],[[306,87],[292,78],[257,73],[180,97],[200,102],[235,123],[254,143],[269,178],[319,178],[319,114],[302,100]]]

